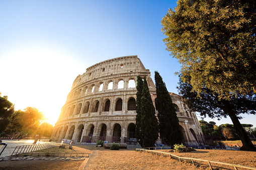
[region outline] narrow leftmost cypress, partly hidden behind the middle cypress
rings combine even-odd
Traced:
[[[136,93],[136,128],[135,128],[135,136],[137,138],[138,143],[142,146],[143,145],[143,136],[141,133],[141,95],[142,95],[142,89],[143,89],[143,81],[140,76],[137,76],[137,93]]]

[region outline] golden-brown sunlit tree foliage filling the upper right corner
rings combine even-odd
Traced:
[[[255,5],[254,0],[178,0],[162,18],[166,50],[198,94],[204,87],[219,99],[256,93]]]

